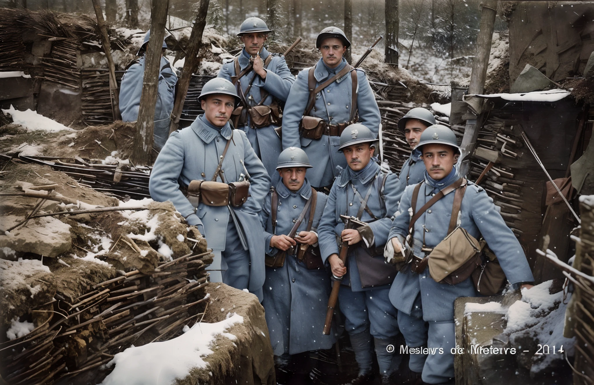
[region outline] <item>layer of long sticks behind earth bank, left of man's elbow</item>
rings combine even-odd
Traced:
[[[97,144],[100,146],[100,144]],[[2,156],[7,158],[8,156]],[[10,158],[10,157],[8,157]],[[120,199],[124,195],[131,198],[150,197],[149,179],[151,168],[134,168],[130,165],[102,165],[89,163],[80,157],[23,156],[18,159],[27,163],[47,165],[62,171],[78,184],[93,190],[105,192]]]

